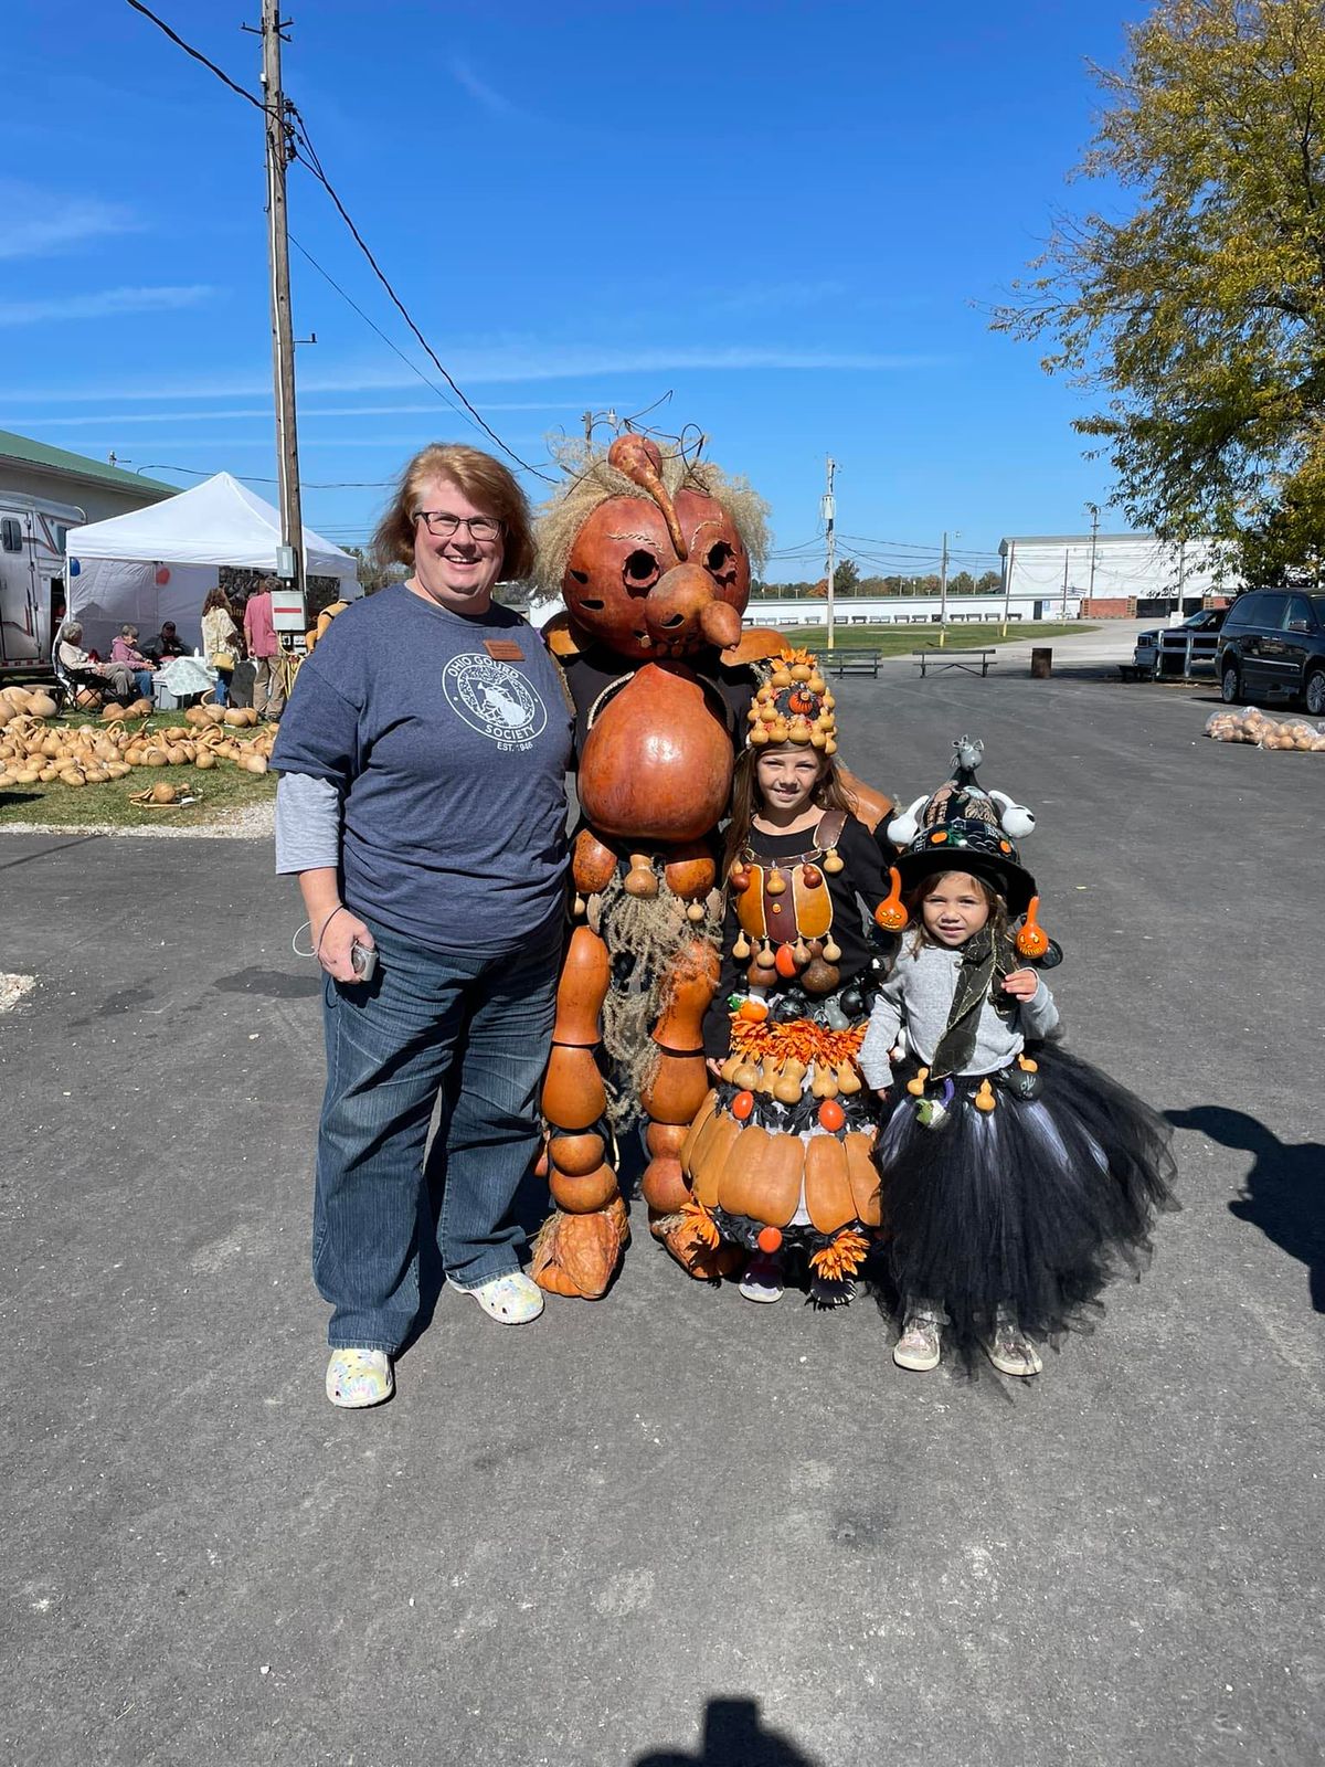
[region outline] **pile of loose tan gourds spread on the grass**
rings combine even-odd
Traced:
[[[0,687],[0,790],[14,785],[106,785],[134,767],[196,767],[233,762],[263,774],[276,728],[256,735],[249,707],[191,705],[182,723],[152,728],[148,700],[108,705],[95,724],[51,724],[55,700],[25,687]],[[171,793],[178,795],[178,793]],[[163,799],[157,797],[157,802]]]

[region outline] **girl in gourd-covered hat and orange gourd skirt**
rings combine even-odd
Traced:
[[[705,1018],[717,1085],[682,1147],[698,1244],[747,1255],[777,1301],[790,1255],[839,1306],[880,1225],[876,1106],[857,1069],[873,951],[899,919],[887,859],[839,777],[834,696],[813,656],[776,657],[747,714],[726,834],[723,974]]]

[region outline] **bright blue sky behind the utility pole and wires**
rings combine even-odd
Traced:
[[[154,0],[256,90],[258,0]],[[284,51],[332,184],[473,405],[525,459],[587,408],[698,424],[772,505],[770,578],[813,576],[823,458],[866,573],[943,528],[1104,505],[1083,396],[993,336],[1092,129],[1086,60],[1140,4],[620,0],[293,5]],[[5,21],[0,428],[196,482],[276,472],[261,118],[122,0]],[[314,180],[300,246],[429,378]],[[369,530],[403,459],[473,438],[292,251],[304,514]],[[544,486],[526,477],[539,495]],[[256,484],[274,497],[272,486]],[[1102,530],[1125,527],[1104,514]],[[915,546],[903,553],[897,542]]]

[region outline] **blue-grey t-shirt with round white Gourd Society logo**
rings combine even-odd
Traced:
[[[518,613],[392,585],[304,661],[272,767],[336,788],[346,906],[424,949],[498,956],[560,921],[569,758],[556,664]]]

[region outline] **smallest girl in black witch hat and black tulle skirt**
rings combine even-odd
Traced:
[[[912,931],[874,997],[860,1071],[892,1113],[878,1143],[901,1368],[931,1369],[950,1327],[1005,1375],[1037,1375],[1035,1338],[1097,1306],[1140,1263],[1171,1207],[1168,1124],[1108,1074],[1046,1041],[1058,1011],[1016,841],[1035,818],[975,785],[982,744],[889,823]],[[903,1057],[897,1057],[897,1044]]]

